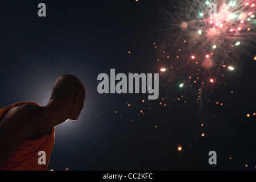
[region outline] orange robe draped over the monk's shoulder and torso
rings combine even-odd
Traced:
[[[15,106],[23,104],[35,104],[36,102],[18,102],[16,104],[9,105],[0,110],[0,122],[3,114],[6,113],[9,109]],[[24,140],[16,150],[9,156],[6,160],[6,163],[3,164],[0,170],[4,171],[45,171],[49,164],[49,159],[53,149],[53,144],[55,142],[55,127],[47,135],[43,135],[37,139],[27,139]],[[5,150],[1,148],[0,150]],[[39,151],[46,152],[46,164],[39,164],[43,158],[43,155]],[[39,154],[38,154],[39,152]],[[40,158],[40,159],[39,159]],[[39,162],[38,162],[39,160]]]

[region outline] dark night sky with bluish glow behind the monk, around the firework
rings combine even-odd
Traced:
[[[46,17],[38,16],[40,2]],[[48,169],[256,169],[255,60],[239,57],[236,70],[216,73],[218,84],[205,84],[200,98],[197,82],[181,89],[188,79],[183,65],[160,71],[167,63],[158,60],[165,48],[158,6],[165,3],[0,1],[1,108],[20,101],[46,105],[56,78],[66,73],[86,87],[79,119],[56,126]],[[111,68],[159,73],[158,100],[99,94],[97,76]],[[216,151],[216,165],[208,163],[209,151]]]

